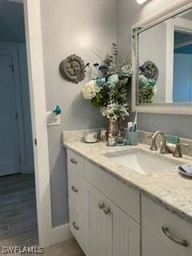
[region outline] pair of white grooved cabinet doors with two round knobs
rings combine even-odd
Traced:
[[[140,256],[140,225],[93,186],[87,192],[90,256]]]

